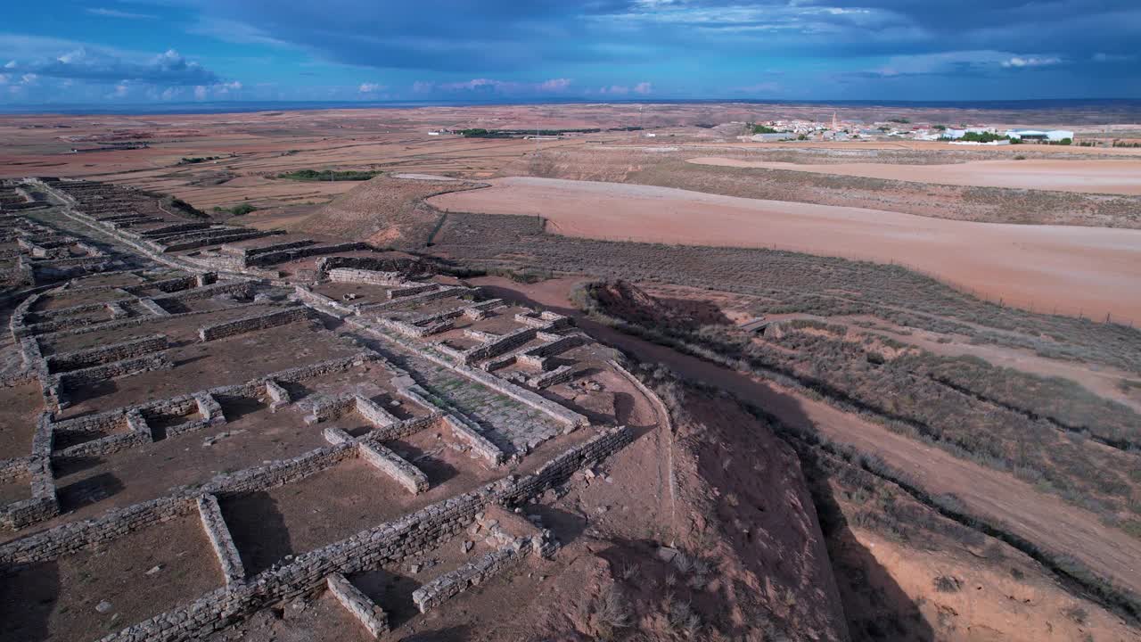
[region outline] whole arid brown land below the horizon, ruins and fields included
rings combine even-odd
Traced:
[[[8,115],[0,179],[0,640],[1141,637],[1141,114]]]

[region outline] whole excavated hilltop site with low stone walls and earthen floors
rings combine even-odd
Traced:
[[[317,639],[404,635],[541,569],[552,489],[655,427],[618,353],[416,257],[97,182],[0,206],[2,640],[229,639],[313,600]]]

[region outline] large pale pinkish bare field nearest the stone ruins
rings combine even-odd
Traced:
[[[903,263],[1036,311],[1141,322],[1141,231],[1006,225],[617,183],[512,177],[442,209],[541,215],[570,236],[777,248]]]

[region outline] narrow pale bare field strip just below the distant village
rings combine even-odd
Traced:
[[[799,164],[704,157],[687,159],[694,164],[788,169],[812,174],[863,176],[936,185],[1014,187],[1058,192],[1141,195],[1139,160],[988,160],[955,164],[889,164],[845,162]]]

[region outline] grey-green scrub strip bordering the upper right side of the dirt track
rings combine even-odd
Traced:
[[[632,321],[632,306],[618,307],[602,295],[609,287],[588,284],[575,298],[586,299],[585,310],[624,331],[800,387],[957,457],[1012,472],[1107,521],[1118,521],[1123,511],[1141,514],[1141,492],[1125,474],[1138,467],[1141,422],[1132,410],[1069,382],[916,350],[885,360],[876,351],[882,339],[807,334],[791,323],[758,342],[735,327],[678,327],[662,313]],[[1097,423],[1098,439],[1114,448],[1093,447],[1086,443],[1089,426],[1063,423],[1086,416]]]

